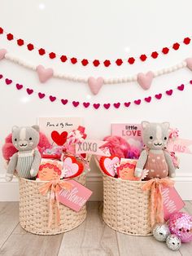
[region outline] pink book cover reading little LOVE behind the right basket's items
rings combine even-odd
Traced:
[[[141,124],[111,124],[111,135],[124,138],[131,146],[142,151]]]

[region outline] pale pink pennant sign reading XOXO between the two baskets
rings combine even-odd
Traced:
[[[85,139],[82,143],[76,144],[76,154],[91,154],[97,156],[108,157],[107,152],[104,152],[101,147],[107,143],[106,141],[98,141],[94,139]]]

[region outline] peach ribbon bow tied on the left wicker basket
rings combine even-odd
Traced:
[[[70,190],[72,188],[72,184],[66,181],[59,180],[51,180],[48,183],[43,184],[39,188],[39,192],[41,195],[45,196],[47,192],[50,192],[50,201],[49,201],[49,222],[48,227],[50,228],[53,221],[53,209],[55,208],[55,223],[59,226],[60,223],[60,210],[59,210],[59,192],[62,189]]]

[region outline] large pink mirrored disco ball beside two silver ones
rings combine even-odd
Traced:
[[[172,214],[168,222],[169,230],[183,243],[192,241],[192,216],[185,213]]]

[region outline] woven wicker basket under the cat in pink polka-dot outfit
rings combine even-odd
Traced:
[[[103,220],[109,227],[133,236],[151,235],[150,192],[142,192],[144,183],[103,174]]]

